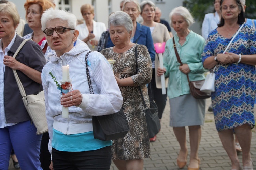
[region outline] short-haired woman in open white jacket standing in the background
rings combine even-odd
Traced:
[[[106,31],[106,26],[102,22],[96,22],[94,18],[94,9],[90,4],[84,4],[80,8],[85,23],[76,27],[79,31],[78,39],[81,39],[89,46],[90,50],[97,51],[98,41],[101,34]]]

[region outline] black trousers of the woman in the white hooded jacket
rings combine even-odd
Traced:
[[[52,148],[54,170],[109,170],[111,146],[93,151],[65,152]]]

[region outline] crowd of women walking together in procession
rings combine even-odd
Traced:
[[[170,25],[176,33],[171,38],[167,27],[154,21],[152,1],[124,1],[122,10],[109,16],[107,31],[103,23],[93,20],[89,4],[81,7],[85,23],[77,25],[74,14],[54,9],[50,0],[26,0],[26,20],[33,32],[21,38],[15,32],[20,19],[15,5],[0,3],[0,169],[8,169],[13,149],[21,169],[110,169],[113,160],[120,170],[142,170],[143,159],[150,158],[150,141],[156,140],[148,137],[142,98],[147,108],[150,100],[156,102],[161,119],[168,96],[170,126],[180,146],[177,166],[184,168],[189,155],[188,170],[199,170],[205,99],[191,95],[187,77],[204,80],[209,69],[216,74],[211,94],[216,129],[231,169],[252,170],[256,30],[245,23],[251,21],[244,15],[245,0],[215,0],[214,4],[219,8],[206,16],[203,37],[189,29],[194,23],[189,10],[174,8]],[[139,15],[142,23],[137,22]],[[26,38],[32,41],[12,57]],[[101,40],[105,49],[98,52]],[[160,68],[153,43],[162,42],[166,45]],[[115,60],[113,67],[108,60]],[[69,65],[72,90],[61,95],[56,83],[62,81],[65,65]],[[44,90],[48,133],[36,135],[13,70],[27,95]],[[166,77],[165,87],[161,75]],[[167,95],[161,88],[167,88]],[[62,117],[62,107],[69,108],[68,118]],[[113,141],[95,139],[92,116],[113,114],[121,107],[130,126],[127,135]]]

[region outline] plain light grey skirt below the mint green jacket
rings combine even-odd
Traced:
[[[195,99],[191,94],[169,99],[170,126],[183,127],[204,124],[205,99]]]

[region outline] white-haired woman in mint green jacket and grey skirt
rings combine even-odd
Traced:
[[[174,40],[183,65],[177,61],[173,39],[167,41],[163,53],[164,68],[158,67],[157,75],[169,77],[168,97],[170,102],[170,126],[180,145],[177,165],[183,168],[187,163],[188,148],[186,129],[189,129],[190,163],[188,170],[199,170],[198,148],[201,140],[201,125],[204,124],[205,99],[195,99],[190,92],[190,81],[204,80],[202,57],[205,40],[189,30],[194,20],[185,7],[176,7],[170,13],[171,26],[176,31]],[[193,49],[193,50],[191,50]]]

